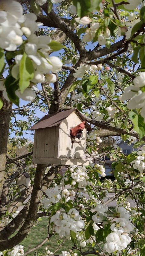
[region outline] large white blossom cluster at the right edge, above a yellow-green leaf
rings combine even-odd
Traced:
[[[139,73],[139,76],[133,79],[134,85],[124,89],[124,94],[121,95],[121,101],[128,102],[128,109],[141,109],[141,115],[145,120],[145,72]]]

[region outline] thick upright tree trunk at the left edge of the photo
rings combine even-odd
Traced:
[[[4,183],[5,169],[6,169],[6,151],[9,133],[10,113],[12,103],[7,101],[0,91],[0,98],[3,101],[3,107],[0,110],[0,196]]]

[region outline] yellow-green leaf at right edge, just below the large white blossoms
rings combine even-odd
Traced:
[[[145,123],[141,115],[136,114],[134,111],[129,112],[129,118],[134,124],[133,130],[138,133],[139,139],[142,139],[145,135]]]

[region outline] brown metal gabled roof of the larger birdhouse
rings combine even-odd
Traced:
[[[85,121],[85,128],[87,130],[91,130],[90,125],[87,123],[85,118],[82,116],[80,111],[78,109],[70,109],[70,110],[65,110],[61,111],[58,113],[53,113],[53,114],[48,114],[41,118],[36,124],[34,124],[30,130],[35,130],[35,129],[41,129],[41,128],[47,128],[47,127],[54,127],[58,126],[63,120],[65,120],[66,117],[68,117],[73,111],[76,112],[80,116],[80,118]]]

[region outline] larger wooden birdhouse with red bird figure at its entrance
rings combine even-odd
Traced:
[[[91,127],[77,109],[48,114],[33,129],[33,163],[88,165],[86,130]]]

